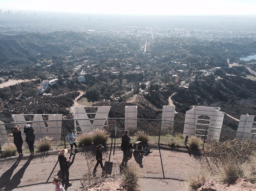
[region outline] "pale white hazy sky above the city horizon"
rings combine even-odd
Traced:
[[[256,0],[0,0],[0,9],[2,12],[30,10],[31,13],[256,15]]]

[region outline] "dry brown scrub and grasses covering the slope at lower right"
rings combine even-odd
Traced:
[[[256,143],[251,140],[213,141],[204,147],[206,165],[197,175],[187,178],[192,189],[197,189],[210,179],[234,184],[238,178],[256,182]],[[206,173],[210,169],[211,173]]]

